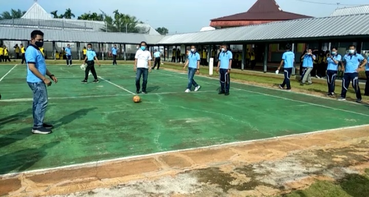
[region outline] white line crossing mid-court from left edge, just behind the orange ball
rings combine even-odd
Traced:
[[[242,91],[242,90],[235,90],[235,91]],[[198,93],[209,93],[209,92],[218,92],[216,90],[209,90],[209,91],[197,91],[197,92],[160,92],[160,93],[152,93],[152,94],[139,94],[143,96],[149,95],[166,95],[166,94],[198,94]],[[63,100],[63,99],[79,99],[79,98],[103,98],[103,97],[124,97],[124,96],[132,96],[131,94],[117,94],[117,95],[92,95],[92,96],[75,96],[75,97],[49,97],[48,99],[55,99],[55,100]],[[3,99],[0,102],[23,102],[23,101],[33,101],[33,98],[17,98],[17,99]]]

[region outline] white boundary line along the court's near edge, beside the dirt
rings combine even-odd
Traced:
[[[13,172],[13,173],[6,173],[6,174],[0,174],[0,178],[12,178],[14,176],[18,176],[20,174],[30,174],[30,173],[48,173],[55,170],[74,170],[74,169],[80,169],[84,167],[96,167],[97,165],[101,165],[104,163],[109,162],[119,162],[119,161],[125,161],[125,160],[135,160],[139,158],[146,158],[146,157],[152,157],[152,156],[160,156],[160,155],[166,155],[166,154],[172,154],[172,153],[178,153],[178,152],[186,152],[186,151],[193,151],[193,150],[200,150],[200,149],[211,149],[211,148],[222,148],[226,146],[237,146],[237,145],[246,145],[253,142],[262,142],[262,141],[272,141],[272,140],[278,140],[283,138],[291,138],[291,137],[299,137],[299,136],[308,136],[312,134],[319,134],[319,133],[326,133],[326,132],[334,132],[335,130],[347,130],[347,129],[354,129],[354,128],[360,128],[369,126],[369,124],[362,124],[362,125],[356,125],[356,126],[347,126],[347,127],[338,127],[338,128],[332,128],[332,129],[324,129],[324,130],[317,130],[315,132],[308,132],[308,133],[302,133],[302,134],[291,134],[291,135],[285,135],[285,136],[276,136],[271,138],[264,138],[264,139],[257,139],[257,140],[246,140],[246,141],[238,141],[238,142],[230,142],[230,143],[223,143],[223,144],[216,144],[216,145],[210,145],[210,146],[201,146],[196,148],[185,148],[185,149],[178,149],[178,150],[169,150],[169,151],[161,151],[161,152],[155,152],[152,154],[144,154],[144,155],[137,155],[137,156],[128,156],[128,157],[120,157],[115,159],[107,159],[107,160],[100,160],[100,161],[92,161],[92,162],[85,162],[80,164],[72,164],[72,165],[65,165],[65,166],[59,166],[59,167],[51,167],[51,168],[43,168],[43,169],[35,169],[35,170],[28,170],[23,172]]]

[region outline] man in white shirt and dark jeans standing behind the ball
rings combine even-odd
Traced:
[[[139,94],[141,75],[144,78],[142,81],[142,93],[147,94],[146,85],[149,71],[151,72],[151,53],[147,49],[147,43],[141,42],[140,48],[135,55],[135,64],[133,70],[136,72],[136,93]]]

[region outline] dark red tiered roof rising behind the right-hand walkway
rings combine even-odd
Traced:
[[[219,20],[293,20],[311,18],[301,14],[284,12],[274,0],[258,0],[247,12],[211,19]]]

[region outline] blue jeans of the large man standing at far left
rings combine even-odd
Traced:
[[[33,128],[40,128],[43,126],[48,104],[46,84],[44,82],[27,83],[33,92]]]

